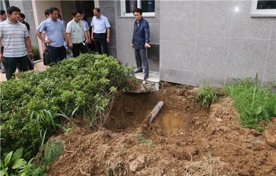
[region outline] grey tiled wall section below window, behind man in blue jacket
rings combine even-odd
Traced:
[[[105,1],[100,1],[100,4]],[[155,3],[155,17],[145,18],[150,26],[150,41],[151,43],[159,44],[160,35],[160,2]],[[121,17],[120,15],[120,1],[114,1],[115,7],[115,24],[116,24],[116,48],[117,59],[121,60],[124,64],[135,65],[134,49],[130,48],[134,17]],[[159,61],[149,60],[150,70],[159,71]]]

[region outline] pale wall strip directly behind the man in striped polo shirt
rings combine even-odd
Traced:
[[[32,42],[32,46],[35,48],[38,48],[38,40],[36,36],[36,26],[35,26],[34,14],[33,14],[32,2],[10,0],[10,5],[18,7],[21,10],[21,12],[25,14],[25,21],[30,25],[30,39]]]

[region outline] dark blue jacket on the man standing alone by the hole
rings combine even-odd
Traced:
[[[137,21],[134,22],[132,44],[135,49],[145,49],[145,43],[150,44],[150,27],[147,20],[142,18],[139,26]]]

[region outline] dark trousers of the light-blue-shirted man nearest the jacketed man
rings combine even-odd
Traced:
[[[95,50],[99,54],[106,54],[108,56],[107,43],[106,43],[106,33],[96,34],[93,33]],[[102,47],[102,51],[101,51]]]

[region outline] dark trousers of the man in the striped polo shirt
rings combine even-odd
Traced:
[[[4,57],[5,59],[5,68],[6,68],[6,78],[10,80],[13,74],[16,72],[17,64],[20,65],[20,72],[28,71],[28,56],[23,57]]]

